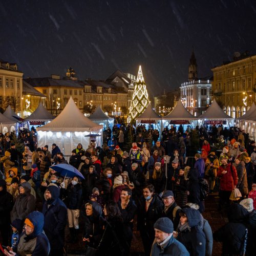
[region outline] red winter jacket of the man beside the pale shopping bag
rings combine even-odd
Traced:
[[[232,170],[231,170],[232,169]],[[223,170],[226,170],[226,174],[222,174]],[[217,172],[217,177],[220,177],[220,189],[224,191],[232,191],[234,186],[238,184],[238,175],[236,168],[228,163],[226,168],[221,165]]]

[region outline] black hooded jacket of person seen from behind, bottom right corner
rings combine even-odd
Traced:
[[[243,255],[242,248],[246,232],[243,222],[248,211],[239,204],[232,204],[228,211],[229,223],[214,232],[214,239],[222,242],[222,255]]]

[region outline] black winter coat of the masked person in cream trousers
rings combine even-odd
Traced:
[[[80,184],[68,185],[66,190],[67,207],[71,210],[80,209],[82,205],[82,188]]]

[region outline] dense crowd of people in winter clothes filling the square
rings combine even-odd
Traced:
[[[214,239],[223,255],[253,255],[255,141],[237,127],[208,130],[172,125],[160,135],[144,125],[114,125],[101,147],[79,143],[69,159],[55,143],[37,148],[34,130],[20,133],[23,152],[13,134],[0,136],[5,254],[63,255],[67,243],[79,242],[85,255],[129,255],[136,229],[145,255],[211,255]],[[59,163],[83,179],[61,176],[51,168]],[[216,211],[228,217],[213,234],[202,215],[211,193],[219,197]]]

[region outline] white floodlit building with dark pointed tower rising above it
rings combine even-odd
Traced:
[[[211,103],[211,82],[211,77],[198,78],[197,60],[193,51],[188,66],[188,79],[180,87],[181,101],[192,115],[200,116]]]

